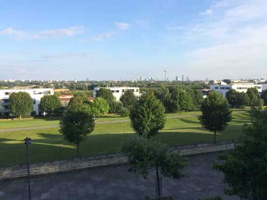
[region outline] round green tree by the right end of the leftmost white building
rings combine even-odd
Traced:
[[[61,107],[58,95],[44,95],[40,100],[40,109],[50,116]]]

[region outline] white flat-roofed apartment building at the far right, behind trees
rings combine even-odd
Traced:
[[[210,90],[215,90],[217,92],[220,92],[223,97],[226,96],[226,92],[228,92],[230,89],[235,89],[237,92],[246,92],[248,88],[255,87],[258,89],[259,93],[262,92],[262,85],[256,85],[256,84],[216,84],[216,85],[210,85]]]

